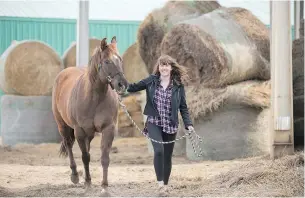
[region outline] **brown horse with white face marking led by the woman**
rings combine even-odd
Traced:
[[[111,87],[122,93],[128,86],[116,44],[116,37],[112,38],[109,45],[104,38],[88,67],[69,67],[58,74],[52,93],[52,110],[62,136],[60,154],[69,156],[73,183],[79,182],[72,152],[75,139],[82,152],[85,185],[90,186],[90,142],[95,132],[102,133],[104,191],[108,187],[109,151],[117,130],[118,116],[118,95]]]

